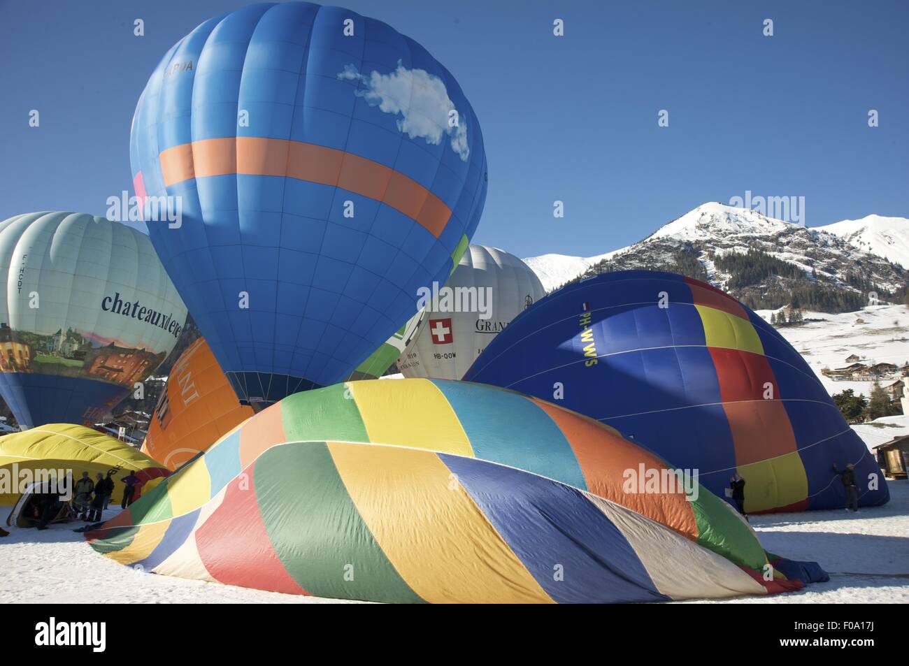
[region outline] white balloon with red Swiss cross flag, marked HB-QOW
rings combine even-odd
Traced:
[[[495,335],[545,293],[540,279],[514,254],[471,244],[427,304],[398,369],[408,378],[461,379]]]

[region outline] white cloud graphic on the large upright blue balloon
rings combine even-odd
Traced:
[[[370,106],[378,106],[386,114],[400,114],[397,128],[412,139],[425,139],[427,144],[438,145],[444,136],[451,137],[452,150],[464,162],[470,155],[467,145],[467,127],[458,114],[458,124],[450,127],[448,114],[454,102],[448,97],[445,82],[425,69],[407,69],[398,61],[394,72],[369,75],[360,74],[354,65],[346,65],[337,75],[343,81],[359,81],[365,87],[355,91]]]

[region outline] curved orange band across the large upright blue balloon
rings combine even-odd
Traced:
[[[301,141],[229,136],[175,145],[160,154],[165,186],[213,175],[274,175],[341,187],[391,206],[436,238],[451,209],[391,167],[343,150]]]

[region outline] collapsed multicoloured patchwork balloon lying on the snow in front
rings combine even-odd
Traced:
[[[349,382],[255,415],[88,538],[149,572],[368,601],[664,601],[810,578],[703,488],[635,488],[639,473],[676,478],[551,403]]]

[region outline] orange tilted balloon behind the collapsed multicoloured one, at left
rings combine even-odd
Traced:
[[[174,364],[142,451],[175,470],[252,415],[200,338]]]

